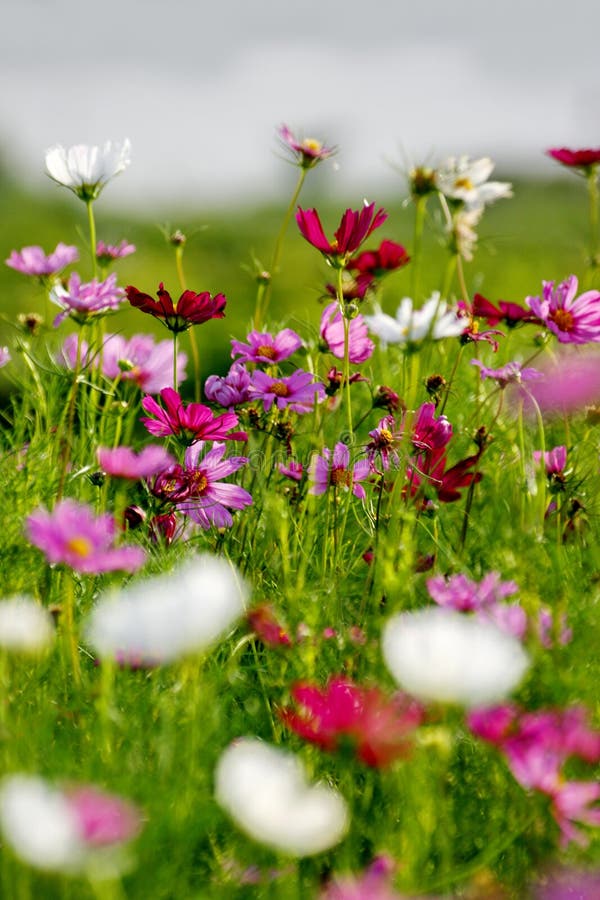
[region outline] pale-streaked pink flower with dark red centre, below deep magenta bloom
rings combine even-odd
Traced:
[[[177,509],[205,530],[211,526],[229,528],[233,525],[230,510],[250,506],[252,495],[236,484],[227,484],[221,479],[237,472],[246,465],[248,458],[232,456],[223,459],[225,444],[215,444],[200,459],[203,449],[201,443],[188,447],[183,471],[177,467],[180,493],[183,494],[182,499],[177,501]],[[166,475],[168,477],[168,472]]]

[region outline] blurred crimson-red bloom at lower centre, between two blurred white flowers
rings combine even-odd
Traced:
[[[356,756],[368,766],[387,766],[406,756],[409,734],[423,719],[423,709],[405,695],[388,698],[377,687],[363,688],[343,677],[330,678],[323,691],[296,684],[292,697],[301,711],[281,711],[288,728],[329,752],[350,738]]]

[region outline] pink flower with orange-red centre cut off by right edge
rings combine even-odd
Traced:
[[[586,291],[576,297],[578,281],[570,275],[554,287],[544,281],[542,297],[526,297],[525,302],[561,344],[600,341],[600,292]]]

